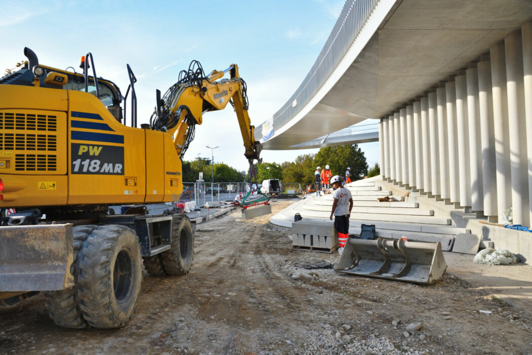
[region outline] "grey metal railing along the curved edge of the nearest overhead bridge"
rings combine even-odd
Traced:
[[[273,114],[273,131],[292,119],[325,84],[382,0],[347,0],[318,59],[301,85],[288,101]],[[262,137],[262,125],[255,128],[255,136]]]

